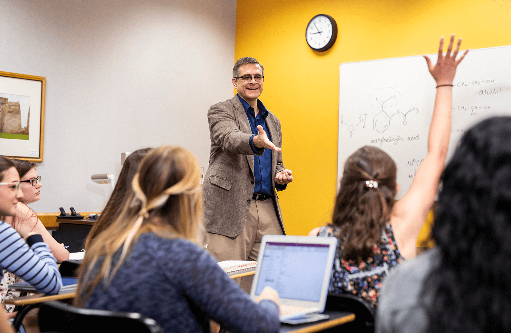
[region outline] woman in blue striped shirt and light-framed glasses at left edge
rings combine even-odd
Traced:
[[[0,156],[0,270],[16,275],[32,284],[37,292],[57,294],[62,286],[57,260],[36,232],[16,232],[4,222],[16,214],[17,203],[23,198],[22,184],[14,163]],[[6,281],[4,280],[3,283]],[[2,304],[7,286],[2,286]]]

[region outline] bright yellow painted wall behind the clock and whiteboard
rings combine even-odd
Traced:
[[[323,53],[305,41],[316,14],[333,16],[339,30]],[[288,234],[307,234],[330,220],[339,64],[435,53],[440,35],[453,32],[463,37],[462,48],[511,44],[511,1],[237,1],[235,57],[264,65],[261,100],[282,122],[284,165],[295,179],[278,194]]]

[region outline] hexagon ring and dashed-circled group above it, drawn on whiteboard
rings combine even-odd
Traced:
[[[390,127],[390,120],[394,113],[388,115],[388,108],[397,105],[399,101],[401,101],[401,93],[392,87],[376,89],[369,96],[369,103],[381,108],[380,112],[373,117],[373,129],[375,131],[383,133]],[[387,108],[387,111],[385,111],[385,108]]]

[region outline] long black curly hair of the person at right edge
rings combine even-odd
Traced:
[[[438,201],[439,256],[421,296],[427,332],[511,331],[511,117],[463,135]]]

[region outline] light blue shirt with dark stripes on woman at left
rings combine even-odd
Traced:
[[[57,260],[48,245],[36,242],[29,247],[4,221],[0,221],[0,269],[29,282],[39,293],[54,295],[62,286]]]

